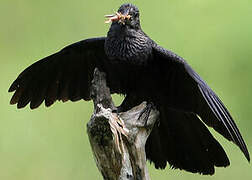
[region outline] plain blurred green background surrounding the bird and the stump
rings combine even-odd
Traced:
[[[126,1],[0,0],[0,179],[102,179],[86,123],[92,103],[57,102],[50,108],[9,105],[10,83],[28,65],[73,42],[105,36],[104,15]],[[252,1],[131,1],[144,31],[184,57],[224,101],[252,149]],[[116,96],[117,102],[122,97]],[[217,136],[231,166],[201,176],[167,168],[152,179],[252,179],[239,149]]]

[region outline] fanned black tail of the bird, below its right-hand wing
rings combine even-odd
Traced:
[[[230,164],[221,145],[196,114],[160,108],[159,121],[145,146],[147,159],[156,168],[164,169],[168,162],[175,169],[212,175],[214,166]]]

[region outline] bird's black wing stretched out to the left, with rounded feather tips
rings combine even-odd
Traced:
[[[32,64],[10,86],[15,91],[10,103],[34,109],[43,101],[50,106],[56,100],[89,100],[94,68],[103,68],[106,58],[104,41],[83,40]]]

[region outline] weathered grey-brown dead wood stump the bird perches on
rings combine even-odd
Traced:
[[[145,124],[138,119],[146,107],[143,102],[127,112],[112,113],[115,109],[106,75],[94,71],[91,87],[94,113],[87,124],[87,133],[96,165],[105,180],[149,180],[146,167],[145,143],[158,117],[152,110]]]

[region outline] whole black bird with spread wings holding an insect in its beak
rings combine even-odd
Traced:
[[[123,4],[107,37],[86,39],[63,48],[26,68],[12,83],[10,103],[34,109],[45,101],[90,100],[94,68],[107,74],[112,93],[126,95],[125,111],[147,101],[160,112],[146,143],[146,156],[156,168],[214,174],[229,159],[205,124],[234,142],[250,161],[246,144],[218,96],[186,63],[157,45],[141,29],[139,10]],[[152,108],[152,106],[149,106]]]

